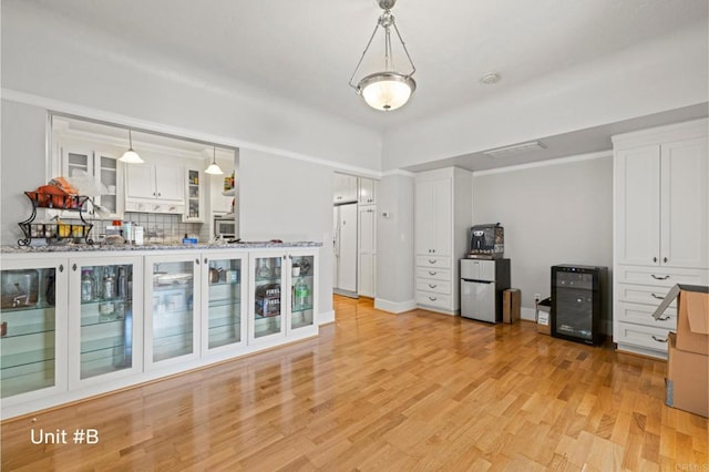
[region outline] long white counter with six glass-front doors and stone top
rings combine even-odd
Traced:
[[[320,246],[2,247],[2,418],[317,336]]]

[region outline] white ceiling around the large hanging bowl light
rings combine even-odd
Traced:
[[[382,133],[494,100],[530,81],[706,23],[708,16],[706,0],[399,0],[393,13],[417,66],[418,90],[404,107],[383,113],[369,109],[348,86],[381,12],[374,0],[29,1],[150,54]],[[502,81],[482,84],[480,78],[489,72],[500,73]],[[706,114],[706,106],[690,107],[540,138],[564,143],[557,153],[593,152],[609,147],[612,132]],[[469,168],[472,162],[475,168],[500,165],[481,156],[449,161]]]

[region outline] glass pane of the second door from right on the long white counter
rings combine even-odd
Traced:
[[[280,257],[256,258],[255,290],[254,336],[260,338],[280,332]]]

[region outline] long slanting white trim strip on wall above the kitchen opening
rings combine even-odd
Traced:
[[[78,105],[74,103],[64,102],[61,100],[49,99],[47,96],[35,95],[32,93],[20,92],[12,89],[0,89],[0,98],[10,102],[22,103],[25,105],[38,106],[47,109],[49,112],[55,112],[59,114],[75,115],[76,117],[86,117],[89,120],[96,120],[107,123],[114,123],[116,125],[123,125],[131,127],[134,131],[145,131],[169,134],[175,137],[185,137],[187,140],[203,141],[207,143],[216,143],[223,146],[233,146],[244,150],[259,151],[269,154],[277,154],[285,157],[295,158],[298,161],[305,161],[312,164],[333,167],[337,170],[347,171],[349,173],[360,174],[362,176],[381,177],[381,171],[372,171],[370,168],[358,167],[349,164],[340,164],[326,160],[323,157],[315,157],[306,154],[300,154],[292,151],[282,150],[279,147],[273,147],[251,143],[248,141],[235,140],[234,137],[220,136],[217,134],[209,134],[204,132],[197,132],[194,130],[187,130],[185,127],[166,125],[163,123],[156,123],[148,120],[142,120],[134,116],[126,116],[119,113],[106,112],[103,110],[94,109],[92,106]]]

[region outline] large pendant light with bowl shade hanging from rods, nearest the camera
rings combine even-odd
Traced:
[[[377,2],[384,12],[379,17],[374,31],[367,43],[367,48],[364,48],[364,52],[362,52],[362,57],[350,78],[350,86],[354,89],[359,95],[362,95],[367,104],[372,109],[391,111],[405,105],[411,98],[411,94],[417,89],[417,83],[411,78],[411,75],[417,71],[417,68],[413,65],[413,61],[411,61],[407,45],[404,44],[403,39],[401,39],[401,33],[399,33],[399,29],[394,22],[394,17],[391,14],[391,9],[397,3],[397,0],[377,0]],[[369,47],[371,45],[379,28],[384,32],[384,70],[366,75],[357,85],[354,85],[352,83],[354,75],[357,75],[359,68],[362,64],[362,60],[364,59],[364,55],[367,55],[367,51],[369,51]],[[399,38],[399,42],[401,43],[403,52],[407,54],[407,59],[411,65],[411,72],[409,73],[401,73],[392,70],[392,28],[397,33],[397,38]]]

